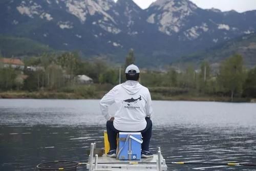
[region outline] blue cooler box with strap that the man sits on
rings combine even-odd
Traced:
[[[119,133],[117,159],[140,160],[142,142],[141,133]]]

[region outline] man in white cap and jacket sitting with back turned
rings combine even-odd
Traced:
[[[100,100],[102,115],[107,120],[109,157],[116,157],[116,138],[119,132],[141,132],[141,157],[153,157],[149,149],[152,135],[152,100],[148,89],[138,82],[139,74],[137,66],[128,66],[125,70],[126,81],[114,87]],[[111,116],[109,106],[113,103],[117,105],[118,110]]]

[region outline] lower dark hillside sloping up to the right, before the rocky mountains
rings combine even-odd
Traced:
[[[215,47],[205,49],[184,55],[180,57],[177,63],[196,63],[200,65],[201,61],[208,61],[212,66],[218,69],[219,62],[234,54],[240,54],[243,57],[243,62],[248,68],[256,66],[256,34],[246,34],[231,40],[222,42]]]

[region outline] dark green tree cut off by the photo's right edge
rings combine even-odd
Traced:
[[[256,98],[256,67],[248,72],[243,86],[243,95]]]

